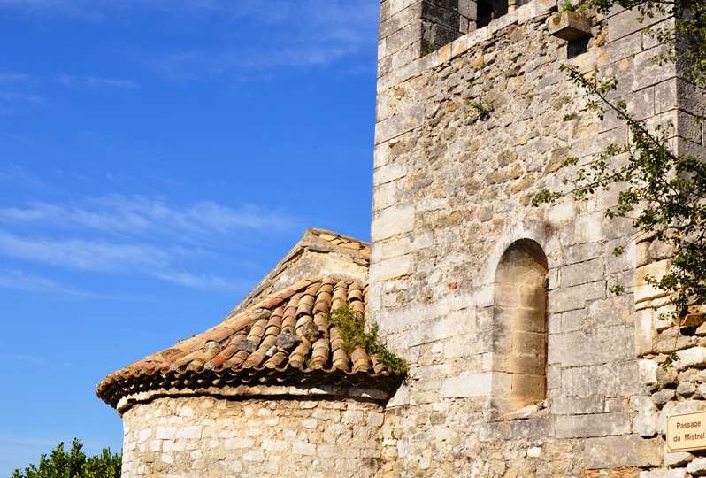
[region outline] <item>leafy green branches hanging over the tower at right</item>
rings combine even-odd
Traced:
[[[664,17],[666,27],[650,30],[664,48],[654,62],[674,64],[679,77],[694,89],[706,88],[706,3],[702,0],[579,0],[566,9],[608,14],[615,7],[635,9],[641,21]],[[669,19],[672,18],[673,21]],[[618,81],[597,72],[581,72],[570,65],[564,73],[591,98],[587,110],[610,113],[629,129],[626,143],[610,144],[584,164],[568,158],[575,169],[563,190],[542,190],[533,204],[554,204],[564,197],[584,200],[598,192],[619,188],[618,204],[606,216],[632,220],[636,230],[664,243],[672,252],[670,269],[646,281],[671,297],[674,314],[683,316],[691,305],[706,304],[706,158],[675,152],[673,125],[648,127],[628,111],[617,95]],[[702,92],[703,93],[703,92]],[[697,118],[703,121],[703,118]],[[624,252],[618,247],[616,255]],[[616,293],[624,287],[613,288]]]

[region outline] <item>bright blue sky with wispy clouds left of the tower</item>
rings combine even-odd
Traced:
[[[305,227],[367,238],[377,0],[0,0],[0,476]]]

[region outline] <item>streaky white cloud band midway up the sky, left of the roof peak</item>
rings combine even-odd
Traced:
[[[219,258],[224,244],[232,247],[245,231],[281,231],[297,223],[254,205],[176,207],[164,199],[122,196],[44,202],[0,208],[0,256],[83,272],[138,274],[195,289],[242,289],[249,281],[192,270],[196,258]],[[16,272],[0,272],[0,288],[81,293]]]

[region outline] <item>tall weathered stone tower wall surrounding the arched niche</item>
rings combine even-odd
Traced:
[[[404,3],[388,4],[383,24]],[[393,28],[381,28],[369,312],[411,365],[388,404],[383,476],[637,476],[664,463],[635,350],[637,246],[629,221],[605,218],[618,190],[530,202],[572,177],[566,158],[628,135],[585,111],[563,63],[615,74],[632,112],[672,121],[675,147],[702,148],[702,127],[679,109],[676,68],[651,62],[661,47],[644,28],[668,20],[615,12],[567,44],[548,33],[553,12],[533,0],[416,57],[391,55]],[[547,392],[503,415],[494,281],[522,239],[549,266]]]

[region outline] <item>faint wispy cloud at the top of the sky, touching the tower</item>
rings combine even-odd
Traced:
[[[377,2],[272,0],[205,2],[202,9],[232,21],[250,19],[276,32],[280,41],[251,42],[243,48],[173,52],[153,62],[157,71],[179,79],[278,67],[326,66],[377,43]]]

